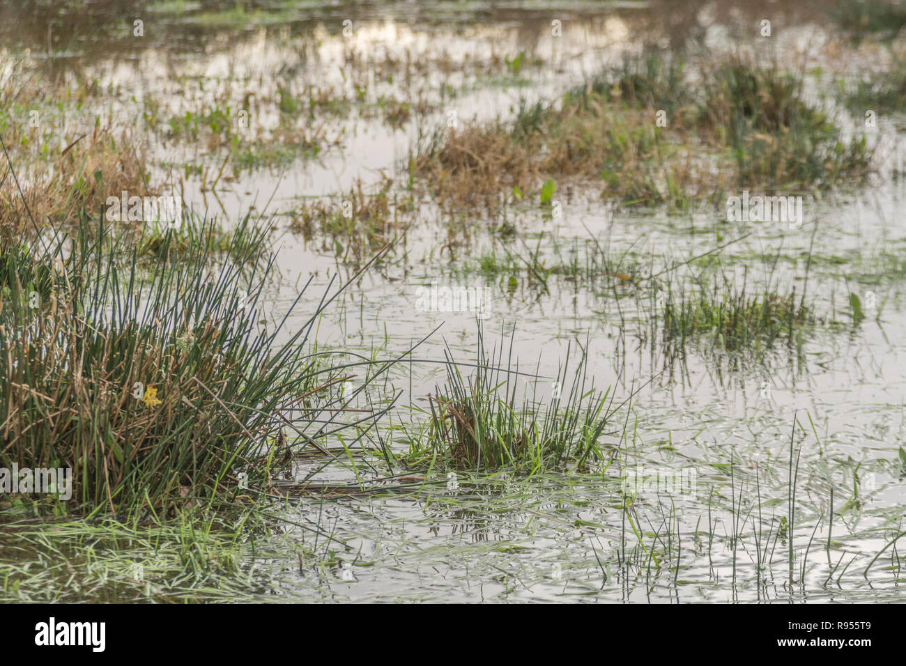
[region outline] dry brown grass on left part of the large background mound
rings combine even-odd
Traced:
[[[530,128],[519,122],[531,115]],[[713,182],[708,163],[665,140],[652,110],[614,115],[602,101],[560,110],[523,111],[516,129],[502,123],[449,130],[410,162],[445,208],[493,208],[530,197],[545,182],[602,188],[628,203],[669,202]],[[678,157],[679,154],[679,157]]]

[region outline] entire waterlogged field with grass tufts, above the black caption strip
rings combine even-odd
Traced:
[[[26,5],[0,599],[901,599],[901,5]]]

